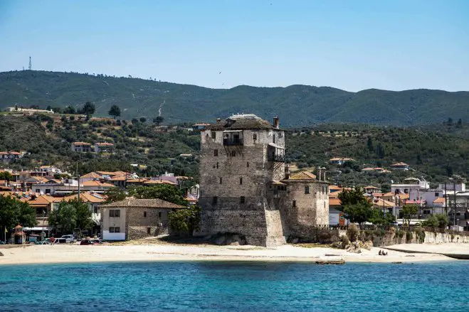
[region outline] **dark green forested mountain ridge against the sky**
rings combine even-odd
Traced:
[[[409,126],[469,119],[469,92],[371,89],[354,93],[307,85],[225,90],[74,72],[0,72],[0,108],[14,104],[65,107],[87,101],[95,103],[98,116],[107,116],[112,104],[117,104],[123,119],[151,119],[161,112],[173,123],[214,120],[237,112],[268,120],[278,115],[285,127],[325,122]]]

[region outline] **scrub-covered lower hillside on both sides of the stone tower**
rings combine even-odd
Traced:
[[[70,120],[70,118],[72,120]],[[0,151],[27,151],[10,168],[32,168],[56,164],[70,172],[78,163],[80,173],[89,171],[135,171],[130,163],[147,165],[137,171],[141,176],[156,176],[164,171],[177,175],[199,175],[197,131],[187,124],[156,127],[142,123],[93,118],[90,121],[46,115],[0,115]],[[421,177],[433,185],[448,176],[469,176],[468,124],[439,124],[433,129],[419,127],[381,127],[364,124],[322,124],[287,131],[286,158],[300,168],[325,166],[328,179],[344,185],[385,185],[408,176]],[[97,155],[70,150],[73,141],[115,144],[115,154]],[[181,157],[180,154],[192,154]],[[345,166],[331,166],[333,157],[354,158]],[[171,161],[171,158],[173,160]],[[404,161],[409,172],[363,173],[365,167],[389,168]]]

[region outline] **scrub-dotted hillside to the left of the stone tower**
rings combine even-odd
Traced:
[[[73,120],[70,120],[72,118]],[[90,144],[115,144],[115,154],[77,153],[74,141]],[[26,151],[23,158],[3,164],[9,168],[33,168],[55,164],[80,174],[90,171],[135,171],[131,163],[147,166],[137,172],[156,176],[164,171],[180,176],[197,176],[199,133],[181,127],[154,127],[141,122],[116,122],[112,119],[74,119],[36,114],[33,116],[0,115],[0,151]],[[193,154],[192,157],[179,157]],[[1,164],[1,163],[0,163]]]

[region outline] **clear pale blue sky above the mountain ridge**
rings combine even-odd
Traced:
[[[467,0],[0,0],[0,71],[469,90]]]

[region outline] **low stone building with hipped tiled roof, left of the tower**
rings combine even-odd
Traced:
[[[138,198],[101,205],[101,237],[103,240],[137,240],[166,234],[169,213],[185,208],[165,200]]]

